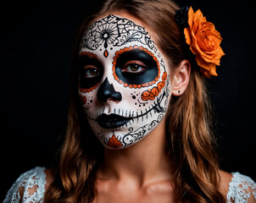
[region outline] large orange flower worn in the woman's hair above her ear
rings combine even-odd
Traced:
[[[205,76],[216,76],[216,65],[220,66],[220,58],[225,55],[220,47],[220,33],[215,30],[214,24],[203,17],[199,9],[194,13],[193,9],[189,8],[188,25],[184,29],[186,43],[196,55],[198,65]]]

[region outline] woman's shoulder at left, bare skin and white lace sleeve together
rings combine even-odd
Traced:
[[[34,167],[22,173],[8,190],[3,203],[8,202],[42,202],[49,184],[53,181],[53,173],[45,167]]]

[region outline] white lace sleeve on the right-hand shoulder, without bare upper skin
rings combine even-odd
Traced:
[[[256,202],[256,184],[253,179],[238,172],[232,175],[233,178],[226,195],[227,203],[247,203],[251,194]]]

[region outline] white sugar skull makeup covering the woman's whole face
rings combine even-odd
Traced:
[[[79,94],[92,130],[107,148],[124,148],[164,118],[170,75],[147,30],[109,15],[81,40]]]

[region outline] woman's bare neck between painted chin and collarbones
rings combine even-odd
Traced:
[[[100,174],[139,185],[170,179],[170,162],[165,154],[165,121],[135,145],[121,150],[105,149]]]

